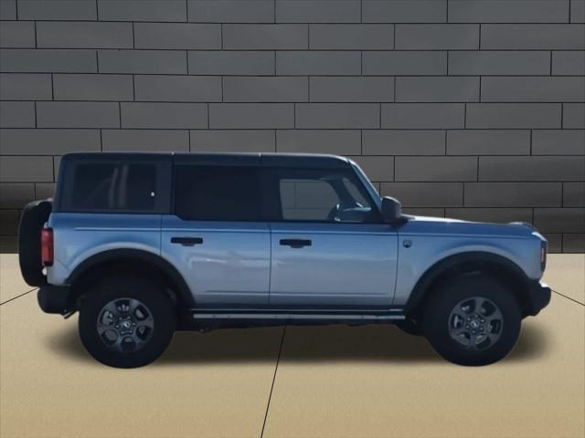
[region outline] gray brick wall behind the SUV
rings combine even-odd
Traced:
[[[353,157],[585,251],[585,0],[0,0],[0,246],[69,151]]]

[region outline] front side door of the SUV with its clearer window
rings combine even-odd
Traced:
[[[396,282],[396,231],[352,169],[273,170],[271,305],[386,307]]]

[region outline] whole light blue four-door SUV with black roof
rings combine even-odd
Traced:
[[[29,203],[20,264],[97,360],[158,358],[176,329],[395,323],[484,365],[548,305],[529,224],[409,216],[332,155],[74,153]]]

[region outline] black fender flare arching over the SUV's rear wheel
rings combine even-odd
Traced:
[[[78,266],[73,269],[71,274],[66,280],[68,285],[73,285],[75,282],[87,273],[91,268],[100,266],[106,262],[113,262],[115,260],[130,260],[134,262],[139,262],[144,265],[154,266],[155,268],[159,269],[166,276],[168,276],[171,281],[176,286],[176,294],[180,297],[181,303],[184,306],[189,308],[195,307],[195,300],[193,299],[193,295],[191,294],[191,289],[186,284],[185,278],[179,273],[175,266],[171,265],[167,262],[163,257],[160,255],[155,255],[148,251],[144,251],[141,249],[133,249],[133,248],[120,248],[120,249],[111,249],[107,251],[103,251],[96,255],[91,255],[83,262],[81,262]]]

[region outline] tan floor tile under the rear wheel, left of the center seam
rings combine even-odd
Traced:
[[[115,370],[81,347],[77,318],[41,314],[34,294],[0,318],[3,438],[261,434],[280,328],[178,333],[163,360]]]

